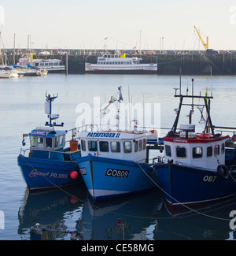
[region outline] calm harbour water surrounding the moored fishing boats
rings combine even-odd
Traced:
[[[193,78],[194,93],[201,91],[205,94],[208,88],[208,94],[212,93],[214,97],[211,105],[213,123],[236,127],[236,76]],[[182,77],[182,93],[186,93],[187,88],[191,93],[191,79],[192,76]],[[232,229],[234,220],[231,221],[230,212],[236,210],[236,199],[197,212],[171,216],[165,207],[163,192],[158,187],[96,204],[91,202],[83,184],[28,194],[17,166],[17,155],[22,147],[22,134],[45,124],[46,91],[58,93],[53,113],[59,113],[60,122],[64,122],[65,129],[69,129],[83,123],[83,118],[89,114],[94,122],[98,121],[101,116],[99,109],[98,112],[94,109],[94,104],[98,106],[98,102],[100,105],[109,102],[119,86],[123,89],[124,102],[131,99],[132,105],[138,103],[139,107],[151,104],[151,114],[146,111],[143,117],[145,124],[151,118],[149,125],[171,128],[175,118],[173,109],[179,106],[179,100],[173,97],[173,88],[179,87],[179,76],[48,74],[0,80],[1,240],[35,239],[30,228],[36,223],[42,224],[43,228],[57,230],[44,232],[41,239],[69,240],[70,234],[65,231],[82,232],[83,239],[87,240],[235,239]],[[154,106],[159,110],[155,112]],[[198,122],[201,114],[198,109],[194,112]],[[165,132],[161,131],[161,135]]]

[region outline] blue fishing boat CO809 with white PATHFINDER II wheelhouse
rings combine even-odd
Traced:
[[[119,91],[119,99],[112,98],[109,105],[120,102],[121,87]],[[149,132],[138,131],[136,125],[133,131],[122,132],[119,124],[113,131],[79,132],[79,171],[94,201],[157,186],[157,173],[148,159],[148,135]]]

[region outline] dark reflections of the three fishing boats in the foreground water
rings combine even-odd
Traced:
[[[99,203],[92,202],[85,186],[38,194],[26,190],[18,234],[21,239],[47,240],[69,240],[68,231],[83,233],[78,239],[84,240],[233,239],[229,215],[235,210],[235,198],[201,213],[171,216],[157,189]],[[45,228],[41,236],[30,232],[36,223]]]

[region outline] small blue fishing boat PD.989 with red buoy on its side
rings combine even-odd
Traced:
[[[46,127],[38,127],[23,135],[29,137],[30,147],[21,148],[17,158],[22,176],[30,191],[49,189],[83,182],[79,175],[76,158],[80,156],[79,141],[75,139],[75,129],[72,129],[70,146],[66,146],[68,131],[57,130],[64,123],[56,124],[58,114],[52,114],[52,102],[57,96],[46,94],[45,113],[50,121]]]

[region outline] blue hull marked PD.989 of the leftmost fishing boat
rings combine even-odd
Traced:
[[[43,158],[17,158],[22,176],[29,190],[50,189],[83,182],[82,176],[72,179],[70,173],[78,171],[76,161],[57,161]]]

